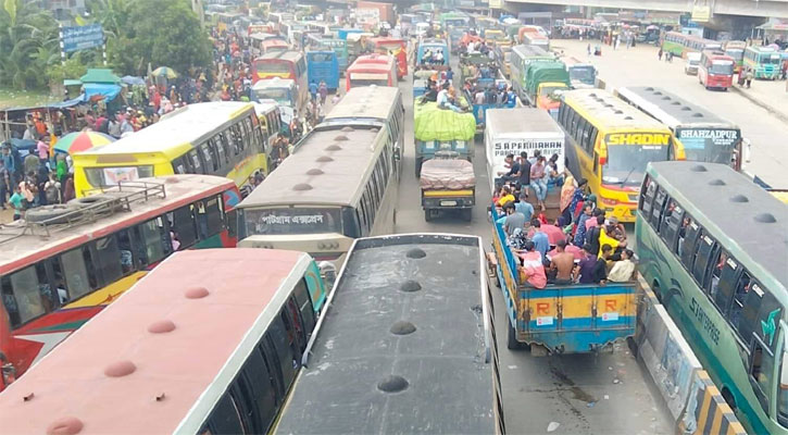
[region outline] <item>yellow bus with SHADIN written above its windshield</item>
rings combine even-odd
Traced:
[[[588,181],[598,207],[620,222],[635,222],[649,162],[685,160],[666,125],[602,89],[564,92],[559,124],[568,136],[570,171]]]

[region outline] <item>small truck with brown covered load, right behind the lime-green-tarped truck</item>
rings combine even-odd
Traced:
[[[442,211],[460,211],[471,222],[476,204],[476,177],[473,163],[458,159],[455,152],[440,151],[422,165],[418,179],[424,220],[429,222]]]

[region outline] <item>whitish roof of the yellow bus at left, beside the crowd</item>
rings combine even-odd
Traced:
[[[212,135],[216,128],[253,111],[252,104],[237,101],[214,101],[189,104],[163,116],[161,121],[103,147],[74,156],[92,158],[108,154],[164,153],[174,159],[195,144]]]

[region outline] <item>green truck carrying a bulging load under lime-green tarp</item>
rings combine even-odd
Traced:
[[[458,98],[458,103],[470,110],[463,97]],[[416,177],[422,174],[422,164],[434,159],[436,151],[453,151],[461,159],[473,160],[476,119],[472,112],[441,109],[435,102],[422,102],[421,99],[416,99],[413,111]]]

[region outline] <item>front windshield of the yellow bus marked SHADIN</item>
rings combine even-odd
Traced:
[[[643,181],[649,162],[668,160],[670,147],[659,145],[614,145],[608,147],[608,163],[602,167],[602,183],[637,187]]]

